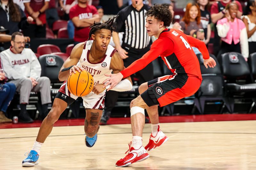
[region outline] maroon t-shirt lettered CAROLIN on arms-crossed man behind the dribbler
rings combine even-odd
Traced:
[[[88,19],[88,18],[92,18],[94,14],[98,14],[98,11],[95,8],[95,6],[87,5],[87,7],[81,8],[80,6],[78,6],[78,4],[76,4],[69,11],[69,18],[72,19],[74,17],[78,17],[79,20]],[[78,41],[78,42],[86,41],[89,38],[89,32],[90,32],[89,27],[79,27],[79,28],[75,27],[74,41]]]

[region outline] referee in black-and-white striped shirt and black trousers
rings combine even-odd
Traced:
[[[149,6],[143,4],[143,0],[132,0],[132,4],[118,12],[116,18],[116,31],[113,31],[113,41],[119,55],[124,60],[124,66],[128,67],[135,60],[141,58],[150,48],[150,37],[145,28],[145,13]],[[118,33],[124,32],[123,43],[120,44]],[[131,76],[133,78],[133,76]],[[148,64],[143,70],[136,73],[139,84],[153,79],[153,64]],[[118,92],[108,91],[105,98],[101,123],[107,123],[112,108],[116,104]]]

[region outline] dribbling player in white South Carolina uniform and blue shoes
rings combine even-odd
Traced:
[[[124,63],[118,52],[109,44],[111,33],[115,30],[114,18],[105,23],[95,23],[90,27],[89,39],[77,44],[70,57],[65,61],[59,72],[60,81],[65,81],[72,73],[88,71],[94,79],[92,92],[82,97],[86,110],[84,120],[85,144],[92,147],[97,140],[97,132],[100,128],[100,118],[104,108],[106,88],[102,88],[103,81],[107,78],[104,74],[118,73],[124,69]],[[108,89],[108,86],[107,86]],[[126,78],[116,86],[115,91],[129,91],[132,89],[131,78]],[[66,81],[60,87],[49,114],[43,120],[36,141],[22,166],[34,166],[38,164],[39,153],[46,137],[51,133],[53,124],[59,119],[62,112],[78,97],[68,91]]]

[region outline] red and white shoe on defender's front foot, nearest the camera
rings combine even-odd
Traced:
[[[116,162],[116,166],[122,167],[122,166],[128,166],[135,162],[140,162],[145,159],[148,159],[149,154],[145,150],[143,146],[140,147],[140,149],[134,149],[131,147],[132,142],[130,142],[129,149],[125,153],[129,152],[128,155],[126,155],[123,159],[120,159]]]

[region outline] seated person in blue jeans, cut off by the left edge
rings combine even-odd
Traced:
[[[6,110],[15,94],[16,87],[13,83],[5,83],[5,73],[0,66],[0,123],[12,122],[6,117]]]

